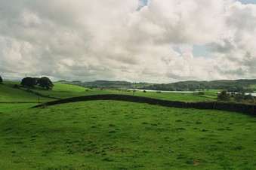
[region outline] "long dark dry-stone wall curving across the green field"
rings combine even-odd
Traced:
[[[235,102],[177,102],[177,101],[168,101],[161,99],[152,99],[147,97],[140,96],[128,96],[128,95],[115,95],[115,94],[106,94],[106,95],[91,95],[91,96],[79,96],[69,99],[60,99],[53,102],[47,102],[42,105],[36,105],[33,108],[39,108],[42,106],[48,105],[58,105],[69,102],[82,102],[82,101],[91,101],[91,100],[117,100],[117,101],[126,101],[126,102],[139,102],[147,103],[150,105],[162,105],[166,107],[174,108],[197,108],[197,109],[216,109],[220,111],[236,111],[245,114],[256,115],[256,105],[247,105],[240,104]]]

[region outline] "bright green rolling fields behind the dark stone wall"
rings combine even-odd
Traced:
[[[42,90],[41,88],[35,87],[34,89],[32,89],[33,92],[45,96],[39,97],[34,93],[26,92],[27,88],[14,88],[15,84],[20,85],[20,82],[8,81],[5,82],[4,85],[0,85],[0,112],[16,111],[20,108],[26,108],[26,106],[28,106],[27,108],[30,108],[32,105],[36,105],[38,102],[42,103],[55,100],[51,98],[66,99],[76,96],[88,96],[96,94],[123,94],[131,96],[134,95],[181,102],[214,101],[216,99],[216,94],[214,93],[214,91],[205,91],[205,95],[203,96],[196,96],[191,93],[143,93],[140,91],[136,91],[135,93],[133,93],[132,91],[128,90],[91,90],[85,87],[79,87],[76,85],[64,83],[54,83],[53,90]],[[12,107],[11,104],[6,103],[15,103],[15,105],[14,107]]]

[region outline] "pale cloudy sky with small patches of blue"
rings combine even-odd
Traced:
[[[256,78],[256,0],[0,0],[4,79]]]

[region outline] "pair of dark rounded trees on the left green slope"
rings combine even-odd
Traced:
[[[23,87],[34,88],[35,86],[39,86],[44,88],[45,90],[51,90],[54,87],[54,84],[48,77],[24,77],[20,83]]]

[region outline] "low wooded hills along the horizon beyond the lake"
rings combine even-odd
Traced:
[[[253,92],[256,90],[256,79],[239,80],[211,80],[197,81],[187,80],[175,83],[131,83],[125,80],[94,80],[94,81],[66,81],[62,83],[76,84],[82,87],[93,88],[139,88],[145,90],[168,90],[168,91],[187,91],[187,90],[228,90],[233,92]]]

